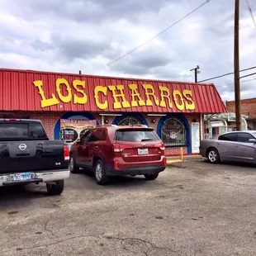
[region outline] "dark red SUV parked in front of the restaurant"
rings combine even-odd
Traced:
[[[70,172],[91,169],[100,185],[107,184],[109,176],[154,180],[165,167],[164,143],[148,126],[97,126],[70,149]]]

